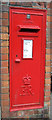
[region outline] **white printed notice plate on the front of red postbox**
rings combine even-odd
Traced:
[[[32,40],[24,40],[23,42],[23,58],[32,58]]]

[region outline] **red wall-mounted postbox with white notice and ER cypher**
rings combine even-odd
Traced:
[[[46,10],[10,8],[10,110],[44,106]]]

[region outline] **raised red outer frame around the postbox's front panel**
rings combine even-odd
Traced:
[[[10,7],[10,28],[9,28],[9,33],[10,33],[10,42],[9,42],[9,53],[10,53],[10,57],[9,57],[9,60],[10,60],[10,111],[17,111],[17,110],[26,110],[26,109],[37,109],[37,108],[42,108],[43,106],[44,106],[44,91],[42,92],[42,98],[41,98],[41,103],[42,103],[42,105],[40,105],[40,106],[35,106],[35,107],[24,107],[24,108],[13,108],[12,107],[12,75],[11,75],[11,70],[12,70],[12,67],[11,67],[11,51],[12,51],[12,47],[11,47],[11,39],[12,39],[12,36],[11,36],[11,33],[12,33],[12,27],[11,27],[11,24],[12,24],[12,10],[13,10],[13,12],[16,10],[16,9],[20,9],[20,10],[23,10],[23,11],[25,11],[25,10],[29,10],[29,11],[32,11],[32,10],[34,10],[34,11],[39,11],[39,13],[32,13],[32,14],[37,14],[37,15],[43,15],[43,43],[42,43],[42,52],[41,52],[41,55],[42,55],[42,53],[44,54],[44,58],[43,58],[43,56],[41,56],[41,58],[42,58],[42,64],[41,64],[41,73],[42,73],[42,71],[44,71],[44,78],[45,78],[45,53],[46,53],[46,14],[47,14],[47,11],[46,10],[40,10],[40,9],[34,9],[34,8],[23,8],[23,7]],[[16,12],[16,11],[15,11]],[[41,79],[43,78],[43,76],[41,75]],[[41,82],[41,85],[43,85],[43,88],[44,88],[44,81],[45,81],[45,79]],[[40,85],[40,87],[42,87]]]

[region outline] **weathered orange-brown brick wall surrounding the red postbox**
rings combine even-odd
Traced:
[[[50,68],[50,26],[52,28],[52,16],[50,5],[52,3],[17,3],[17,2],[2,2],[1,19],[1,111],[2,118],[47,118],[50,116],[50,84],[51,84],[51,68]],[[46,29],[46,64],[45,64],[45,94],[44,94],[44,108],[34,110],[24,110],[10,112],[10,89],[9,89],[9,7],[23,6],[34,7],[40,9],[47,9],[47,29]]]

